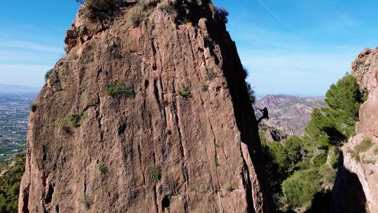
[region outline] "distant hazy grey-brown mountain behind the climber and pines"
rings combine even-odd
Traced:
[[[311,119],[315,107],[324,107],[324,97],[296,97],[290,95],[266,95],[256,100],[255,114],[262,114],[258,108],[267,107],[269,120],[262,121],[265,125],[278,128],[287,135],[303,135],[304,128]]]

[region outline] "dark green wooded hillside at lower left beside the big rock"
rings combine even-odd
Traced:
[[[25,154],[18,154],[12,163],[0,165],[0,213],[18,212],[20,181],[25,171]]]

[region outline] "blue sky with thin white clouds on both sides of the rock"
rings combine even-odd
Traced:
[[[378,46],[378,1],[215,0],[230,12],[228,31],[258,95],[324,95],[363,48]],[[78,4],[4,1],[0,83],[43,85],[64,55]]]

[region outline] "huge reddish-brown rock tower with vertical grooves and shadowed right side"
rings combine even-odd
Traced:
[[[29,116],[19,212],[269,212],[235,43],[208,1],[157,4],[137,26],[133,1],[80,8]]]

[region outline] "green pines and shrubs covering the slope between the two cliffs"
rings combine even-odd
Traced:
[[[315,198],[330,198],[339,146],[353,134],[363,99],[356,79],[347,74],[330,86],[327,107],[314,109],[303,137],[281,145],[267,143],[260,134],[277,210],[304,212],[318,201]],[[324,207],[331,202],[324,201]]]

